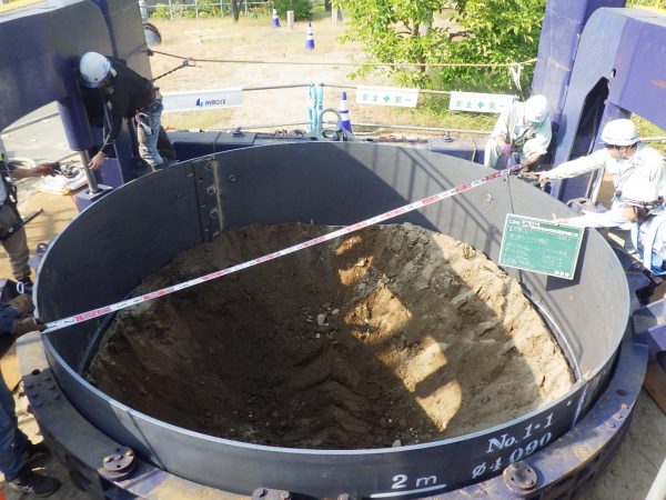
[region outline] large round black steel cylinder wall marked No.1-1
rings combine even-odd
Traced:
[[[50,321],[117,302],[143,276],[225,228],[293,221],[346,226],[490,172],[418,149],[320,142],[239,149],[174,166],[105,196],[54,241],[37,284],[39,314]],[[512,177],[394,222],[441,231],[496,260],[504,220],[512,212],[543,219],[568,214],[563,204]],[[569,361],[584,377],[569,393],[538,411],[434,443],[321,451],[206,437],[133,411],[78,374],[95,346],[103,319],[50,334],[47,351],[60,386],[81,413],[114,440],[180,477],[243,494],[264,486],[312,497],[400,496],[394,490],[396,477],[420,477],[436,464],[437,478],[444,481],[445,476],[445,482],[427,490],[434,493],[487,477],[472,478],[478,470],[475,464],[488,453],[515,454],[517,448],[509,449],[502,436],[551,422],[553,432],[544,439],[545,446],[571,429],[604,386],[625,332],[629,313],[625,277],[595,231],[584,240],[573,281],[507,271],[539,304]]]

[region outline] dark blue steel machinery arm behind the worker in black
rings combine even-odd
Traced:
[[[73,151],[89,152],[101,131],[90,126],[77,67],[87,51],[114,56],[151,77],[139,4],[127,0],[44,0],[0,16],[0,130],[27,113],[58,102]],[[127,124],[98,181],[121,186],[135,160],[134,134]]]

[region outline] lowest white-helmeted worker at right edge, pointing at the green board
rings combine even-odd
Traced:
[[[639,259],[650,273],[666,273],[666,210],[664,198],[648,179],[634,176],[623,188],[616,210],[623,213],[632,231],[632,242]],[[605,212],[606,213],[606,212]],[[578,228],[601,228],[606,226],[604,213],[586,213],[571,219],[559,219]]]

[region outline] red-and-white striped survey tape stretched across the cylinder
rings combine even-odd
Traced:
[[[315,244],[323,243],[324,241],[334,240],[344,234],[349,234],[351,232],[359,231],[363,228],[367,228],[369,226],[374,226],[380,222],[383,222],[389,219],[393,219],[394,217],[402,216],[403,213],[411,212],[413,210],[418,210],[423,207],[427,207],[428,204],[436,203],[437,201],[442,201],[446,198],[451,198],[461,192],[468,191],[478,186],[485,184],[494,179],[498,179],[501,177],[508,176],[509,173],[516,173],[521,170],[521,166],[511,167],[504,170],[498,170],[490,176],[483,177],[481,179],[476,179],[470,183],[456,186],[455,188],[448,189],[446,191],[442,191],[437,194],[433,194],[426,198],[423,198],[418,201],[414,201],[413,203],[405,204],[403,207],[393,209],[389,212],[384,212],[380,216],[372,217],[370,219],[365,219],[361,222],[356,222],[352,226],[346,226],[344,228],[337,229],[336,231],[329,232],[317,238],[313,238],[311,240],[304,241],[299,244],[294,244],[293,247],[285,248],[283,250],[278,250],[275,252],[269,253],[263,257],[258,257],[256,259],[249,260],[246,262],[232,266],[226,269],[222,269],[220,271],[211,272],[210,274],[205,274],[199,278],[191,279],[189,281],[183,281],[182,283],[173,284],[171,287],[162,288],[160,290],[155,290],[152,292],[143,293],[142,296],[134,297],[128,300],[121,300],[120,302],[115,302],[109,306],[104,306],[98,309],[93,309],[91,311],[81,312],[80,314],[70,316],[68,318],[63,318],[57,321],[51,321],[46,323],[47,329],[43,331],[44,333],[49,333],[51,331],[60,330],[64,327],[69,327],[72,324],[82,323],[83,321],[88,321],[94,318],[99,318],[101,316],[109,314],[111,312],[120,311],[121,309],[127,309],[132,306],[137,306],[138,303],[148,302],[153,299],[158,299],[160,297],[169,296],[179,290],[184,290],[185,288],[194,287],[195,284],[205,283],[206,281],[212,281],[218,278],[222,278],[223,276],[231,274],[236,271],[242,271],[243,269],[251,268],[253,266],[258,266],[263,262],[268,262],[270,260],[278,259],[280,257],[287,256],[290,253],[296,252],[304,248],[314,247]]]

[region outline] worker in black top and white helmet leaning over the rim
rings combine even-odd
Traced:
[[[153,170],[164,166],[158,150],[162,96],[151,80],[132,71],[120,59],[104,57],[98,52],[85,52],[79,62],[81,80],[85,87],[102,91],[104,101],[111,107],[110,127],[101,149],[88,164],[99,169],[113,148],[123,119],[134,119],[139,137],[139,153]]]

